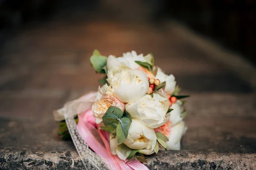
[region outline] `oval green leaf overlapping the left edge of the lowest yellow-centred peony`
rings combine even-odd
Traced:
[[[117,136],[117,142],[122,143],[125,141],[125,139],[128,136],[128,130],[130,128],[131,121],[127,117],[123,117],[120,119],[117,127],[116,127],[116,136]]]

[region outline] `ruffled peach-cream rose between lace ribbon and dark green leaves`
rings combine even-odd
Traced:
[[[96,100],[96,102],[93,103],[92,111],[93,115],[96,118],[97,124],[102,122],[102,117],[105,115],[106,111],[111,106],[116,106],[122,111],[125,110],[125,104],[119,101],[114,96],[105,95],[101,99]]]

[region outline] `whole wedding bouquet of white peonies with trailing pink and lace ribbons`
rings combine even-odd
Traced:
[[[152,54],[105,57],[95,50],[90,62],[106,74],[103,86],[54,112],[59,135],[72,137],[86,168],[146,170],[145,155],[180,150],[182,99],[189,96],[178,95],[175,77],[155,66]]]

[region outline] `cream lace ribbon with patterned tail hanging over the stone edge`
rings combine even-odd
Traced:
[[[84,139],[82,139],[77,130],[74,119],[74,116],[78,113],[90,109],[95,100],[96,92],[91,92],[79,99],[68,102],[63,108],[54,111],[53,115],[56,121],[66,121],[70,136],[86,170],[112,170],[113,167],[105,159],[102,159],[101,156],[90,150],[89,146],[84,142]]]

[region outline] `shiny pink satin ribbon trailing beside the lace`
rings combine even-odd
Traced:
[[[86,111],[83,114],[89,113],[91,110]],[[149,170],[140,161],[133,160],[125,164],[125,160],[119,159],[117,155],[113,155],[110,150],[109,133],[98,130],[90,122],[82,119],[79,115],[79,122],[77,125],[79,134],[82,136],[88,146],[97,154],[102,156],[103,159],[108,161],[108,164],[112,165],[116,170]]]

